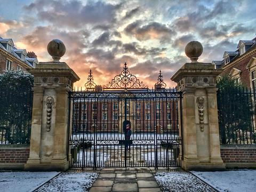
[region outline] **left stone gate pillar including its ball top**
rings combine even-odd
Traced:
[[[35,77],[30,155],[25,170],[67,170],[68,92],[79,80],[67,63],[60,62],[65,45],[54,39],[47,46],[53,61],[39,62],[29,73]]]

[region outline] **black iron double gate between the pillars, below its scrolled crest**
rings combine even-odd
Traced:
[[[181,165],[181,92],[77,91],[69,98],[71,167]],[[131,125],[130,140],[125,139],[126,124]]]

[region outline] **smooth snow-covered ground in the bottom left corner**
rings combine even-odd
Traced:
[[[59,172],[0,172],[0,191],[33,191]]]

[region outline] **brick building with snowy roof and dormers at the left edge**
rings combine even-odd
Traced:
[[[3,70],[35,68],[37,63],[34,52],[17,49],[11,38],[0,37],[0,73]]]

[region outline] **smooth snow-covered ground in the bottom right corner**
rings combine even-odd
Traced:
[[[219,191],[249,192],[256,190],[256,170],[192,172]]]

